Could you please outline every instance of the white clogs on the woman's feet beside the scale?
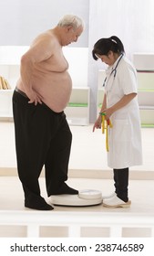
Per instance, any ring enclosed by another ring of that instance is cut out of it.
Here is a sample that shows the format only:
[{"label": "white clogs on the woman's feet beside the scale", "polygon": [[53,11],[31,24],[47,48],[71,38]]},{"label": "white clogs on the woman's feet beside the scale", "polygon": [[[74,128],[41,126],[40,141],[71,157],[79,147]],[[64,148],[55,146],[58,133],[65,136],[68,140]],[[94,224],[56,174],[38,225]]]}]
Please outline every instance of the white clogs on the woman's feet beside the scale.
[{"label": "white clogs on the woman's feet beside the scale", "polygon": [[103,206],[107,208],[129,208],[131,201],[125,202],[115,195],[114,197],[104,199]]}]

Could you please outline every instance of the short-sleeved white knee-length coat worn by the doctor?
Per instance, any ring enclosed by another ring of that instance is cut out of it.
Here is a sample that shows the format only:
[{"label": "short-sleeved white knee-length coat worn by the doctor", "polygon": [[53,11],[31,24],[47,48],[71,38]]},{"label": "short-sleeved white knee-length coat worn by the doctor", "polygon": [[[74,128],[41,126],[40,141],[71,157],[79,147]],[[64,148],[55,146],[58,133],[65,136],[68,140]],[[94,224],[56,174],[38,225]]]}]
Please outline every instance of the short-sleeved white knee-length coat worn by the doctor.
[{"label": "short-sleeved white knee-length coat worn by the doctor", "polygon": [[[115,69],[118,63],[117,70]],[[118,102],[125,94],[138,92],[136,69],[126,57],[107,69],[105,84],[107,108]],[[142,145],[138,96],[125,107],[114,112],[108,128],[108,166],[115,169],[142,164]]]}]

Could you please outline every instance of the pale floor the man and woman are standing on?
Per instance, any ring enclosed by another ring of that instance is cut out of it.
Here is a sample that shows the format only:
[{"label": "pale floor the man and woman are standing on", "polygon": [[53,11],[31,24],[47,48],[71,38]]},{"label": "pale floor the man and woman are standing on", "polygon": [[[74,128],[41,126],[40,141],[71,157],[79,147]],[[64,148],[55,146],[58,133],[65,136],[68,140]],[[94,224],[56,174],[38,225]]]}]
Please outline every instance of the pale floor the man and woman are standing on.
[{"label": "pale floor the man and woman are standing on", "polygon": [[[89,179],[89,178],[69,178],[67,184],[71,187],[82,189],[96,189],[100,190],[103,196],[108,196],[113,192],[113,183],[110,179]],[[44,177],[40,178],[40,187],[42,191],[42,196],[46,198],[46,187]],[[9,188],[9,189],[8,189]],[[0,177],[0,210],[30,210],[24,208],[23,200],[23,190],[18,181],[18,178],[15,176]],[[11,193],[10,193],[11,191]],[[102,212],[144,212],[144,213],[153,213],[154,214],[154,202],[151,200],[149,195],[154,195],[154,181],[143,181],[143,180],[130,180],[129,181],[129,199],[131,199],[132,204],[131,208],[104,208],[102,205],[98,205],[92,208],[92,210],[99,210]],[[57,211],[59,210],[80,210],[81,208],[74,207],[55,207]],[[90,207],[84,208],[84,210],[90,210]]]}]

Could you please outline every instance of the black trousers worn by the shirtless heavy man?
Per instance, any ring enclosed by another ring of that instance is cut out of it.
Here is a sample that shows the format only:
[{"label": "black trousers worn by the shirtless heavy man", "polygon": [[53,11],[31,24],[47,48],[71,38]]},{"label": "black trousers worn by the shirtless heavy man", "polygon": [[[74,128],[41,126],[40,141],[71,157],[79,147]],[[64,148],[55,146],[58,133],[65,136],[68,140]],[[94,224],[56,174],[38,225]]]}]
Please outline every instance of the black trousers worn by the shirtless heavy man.
[{"label": "black trousers worn by the shirtless heavy man", "polygon": [[40,197],[38,178],[45,165],[48,197],[67,180],[72,142],[64,112],[56,113],[46,104],[28,103],[26,95],[14,91],[15,148],[18,176],[25,197]]}]

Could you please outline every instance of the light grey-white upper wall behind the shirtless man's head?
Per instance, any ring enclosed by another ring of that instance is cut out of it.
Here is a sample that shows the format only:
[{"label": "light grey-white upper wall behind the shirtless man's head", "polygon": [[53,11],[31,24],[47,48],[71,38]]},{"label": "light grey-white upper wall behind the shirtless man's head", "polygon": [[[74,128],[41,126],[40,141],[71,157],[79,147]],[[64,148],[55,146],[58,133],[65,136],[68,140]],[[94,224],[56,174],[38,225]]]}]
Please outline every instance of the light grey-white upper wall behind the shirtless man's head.
[{"label": "light grey-white upper wall behind the shirtless man's head", "polygon": [[89,0],[0,0],[0,45],[26,46],[66,14],[85,20],[86,30],[72,47],[87,47]]}]

